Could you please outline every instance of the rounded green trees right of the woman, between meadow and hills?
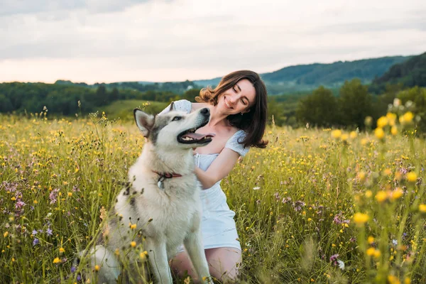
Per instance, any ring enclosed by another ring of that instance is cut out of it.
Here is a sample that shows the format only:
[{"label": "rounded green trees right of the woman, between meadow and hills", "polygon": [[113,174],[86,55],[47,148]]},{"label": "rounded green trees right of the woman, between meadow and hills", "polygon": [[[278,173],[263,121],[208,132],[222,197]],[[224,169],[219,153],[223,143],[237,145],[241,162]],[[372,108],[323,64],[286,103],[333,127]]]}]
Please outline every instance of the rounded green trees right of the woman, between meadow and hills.
[{"label": "rounded green trees right of the woman, between meadow and hills", "polygon": [[418,127],[426,132],[426,88],[418,86],[403,89],[400,84],[388,84],[382,94],[374,95],[368,91],[368,85],[355,79],[346,81],[337,96],[330,89],[319,87],[300,99],[295,116],[300,124],[364,129],[366,116],[376,121],[386,115],[395,98],[400,99],[403,105],[413,102],[413,112],[421,119]]}]

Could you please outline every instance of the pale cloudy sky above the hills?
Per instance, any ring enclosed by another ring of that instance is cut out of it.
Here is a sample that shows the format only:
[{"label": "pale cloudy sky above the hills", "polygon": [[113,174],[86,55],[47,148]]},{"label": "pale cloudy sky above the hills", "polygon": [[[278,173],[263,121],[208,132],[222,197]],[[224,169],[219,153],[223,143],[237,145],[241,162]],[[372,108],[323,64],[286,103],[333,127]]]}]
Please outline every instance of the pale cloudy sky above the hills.
[{"label": "pale cloudy sky above the hills", "polygon": [[183,81],[426,52],[425,0],[0,0],[0,82]]}]

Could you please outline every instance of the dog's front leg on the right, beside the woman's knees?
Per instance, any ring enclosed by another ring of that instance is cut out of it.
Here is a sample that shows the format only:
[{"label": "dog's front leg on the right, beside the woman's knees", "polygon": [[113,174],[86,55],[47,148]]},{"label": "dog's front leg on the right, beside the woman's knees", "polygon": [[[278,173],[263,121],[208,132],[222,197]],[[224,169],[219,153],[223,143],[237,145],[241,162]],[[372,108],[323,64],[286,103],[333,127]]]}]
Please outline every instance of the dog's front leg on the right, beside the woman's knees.
[{"label": "dog's front leg on the right, beside the woman's knees", "polygon": [[202,235],[200,229],[188,233],[183,244],[190,256],[192,266],[194,266],[198,278],[200,278],[199,281],[201,283],[212,283],[209,273],[209,265],[207,264],[206,255],[202,246]]}]

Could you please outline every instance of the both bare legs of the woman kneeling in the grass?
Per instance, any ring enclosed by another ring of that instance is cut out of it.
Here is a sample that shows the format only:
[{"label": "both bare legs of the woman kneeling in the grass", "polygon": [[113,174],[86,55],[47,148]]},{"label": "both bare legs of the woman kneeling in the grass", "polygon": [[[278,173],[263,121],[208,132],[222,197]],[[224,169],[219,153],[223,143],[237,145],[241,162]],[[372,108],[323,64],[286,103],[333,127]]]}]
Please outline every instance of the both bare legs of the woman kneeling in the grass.
[{"label": "both bare legs of the woman kneeling in the grass", "polygon": [[[241,251],[234,248],[215,248],[206,249],[207,263],[209,263],[210,275],[224,283],[234,282],[239,273],[239,267],[241,266]],[[174,273],[177,273],[179,277],[187,274],[192,279],[197,279],[197,273],[195,273],[190,257],[186,251],[178,253],[175,258],[170,262],[170,266]]]}]

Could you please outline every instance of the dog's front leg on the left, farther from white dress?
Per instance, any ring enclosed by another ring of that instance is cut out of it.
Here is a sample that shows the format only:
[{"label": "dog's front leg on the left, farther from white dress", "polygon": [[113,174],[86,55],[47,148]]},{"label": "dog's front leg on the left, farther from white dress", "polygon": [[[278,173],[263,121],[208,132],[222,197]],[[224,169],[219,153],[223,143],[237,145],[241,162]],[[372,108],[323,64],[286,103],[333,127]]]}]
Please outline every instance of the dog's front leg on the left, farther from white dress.
[{"label": "dog's front leg on the left, farther from white dress", "polygon": [[170,273],[165,242],[146,239],[145,246],[157,283],[172,283],[172,273]]}]

